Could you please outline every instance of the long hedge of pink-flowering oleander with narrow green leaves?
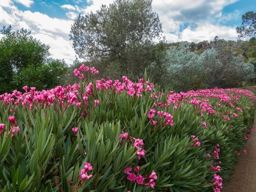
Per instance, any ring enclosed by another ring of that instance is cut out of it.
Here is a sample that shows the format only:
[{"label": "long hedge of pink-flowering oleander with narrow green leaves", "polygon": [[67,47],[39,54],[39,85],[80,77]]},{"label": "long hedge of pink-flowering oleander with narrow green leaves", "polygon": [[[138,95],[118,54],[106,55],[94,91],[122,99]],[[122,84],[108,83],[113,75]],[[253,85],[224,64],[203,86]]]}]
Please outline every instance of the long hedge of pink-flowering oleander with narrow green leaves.
[{"label": "long hedge of pink-flowering oleander with narrow green leaves", "polygon": [[160,92],[146,75],[97,73],[0,95],[0,191],[221,191],[253,131],[252,92]]}]

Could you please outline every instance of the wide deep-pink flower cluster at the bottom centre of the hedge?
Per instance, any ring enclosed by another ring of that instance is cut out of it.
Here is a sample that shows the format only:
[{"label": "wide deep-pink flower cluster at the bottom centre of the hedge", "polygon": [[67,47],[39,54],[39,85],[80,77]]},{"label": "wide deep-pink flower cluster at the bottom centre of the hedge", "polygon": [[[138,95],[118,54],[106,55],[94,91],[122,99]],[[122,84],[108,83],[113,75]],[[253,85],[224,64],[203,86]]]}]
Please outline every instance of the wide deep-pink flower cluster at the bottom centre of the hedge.
[{"label": "wide deep-pink flower cluster at the bottom centre of the hedge", "polygon": [[128,175],[127,180],[137,182],[138,184],[142,184],[142,185],[148,185],[152,189],[154,189],[154,186],[156,185],[154,180],[157,180],[157,175],[154,172],[154,170],[151,172],[151,175],[149,176],[146,175],[145,177],[140,175],[140,166],[135,167],[134,171],[137,172],[137,175],[135,175],[134,173],[131,173],[131,167],[127,167],[123,171],[125,174]]}]

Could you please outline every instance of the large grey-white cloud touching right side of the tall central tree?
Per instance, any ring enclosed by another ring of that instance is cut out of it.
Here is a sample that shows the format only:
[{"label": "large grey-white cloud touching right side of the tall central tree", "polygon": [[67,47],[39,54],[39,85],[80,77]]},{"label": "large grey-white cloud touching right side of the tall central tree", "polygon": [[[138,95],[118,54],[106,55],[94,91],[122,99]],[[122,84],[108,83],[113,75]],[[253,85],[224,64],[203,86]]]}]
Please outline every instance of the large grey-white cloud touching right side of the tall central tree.
[{"label": "large grey-white cloud touching right side of the tall central tree", "polygon": [[[159,15],[164,33],[180,34],[180,26],[201,25],[220,17],[221,10],[238,0],[153,0],[152,7]],[[185,31],[186,32],[186,31]],[[180,34],[181,35],[181,34]]]}]

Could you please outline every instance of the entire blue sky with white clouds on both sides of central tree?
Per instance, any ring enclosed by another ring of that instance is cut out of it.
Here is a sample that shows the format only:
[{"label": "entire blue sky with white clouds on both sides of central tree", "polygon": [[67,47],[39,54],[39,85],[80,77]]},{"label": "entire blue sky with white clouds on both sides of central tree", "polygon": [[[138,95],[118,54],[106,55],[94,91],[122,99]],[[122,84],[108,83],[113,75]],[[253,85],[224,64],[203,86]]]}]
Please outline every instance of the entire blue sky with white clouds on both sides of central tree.
[{"label": "entire blue sky with white clouds on both sides of central tree", "polygon": [[[76,58],[69,40],[70,26],[77,14],[95,12],[113,0],[0,0],[0,27],[21,27],[51,46],[53,58],[71,64]],[[255,0],[153,0],[168,42],[236,40],[241,15],[256,10]]]}]

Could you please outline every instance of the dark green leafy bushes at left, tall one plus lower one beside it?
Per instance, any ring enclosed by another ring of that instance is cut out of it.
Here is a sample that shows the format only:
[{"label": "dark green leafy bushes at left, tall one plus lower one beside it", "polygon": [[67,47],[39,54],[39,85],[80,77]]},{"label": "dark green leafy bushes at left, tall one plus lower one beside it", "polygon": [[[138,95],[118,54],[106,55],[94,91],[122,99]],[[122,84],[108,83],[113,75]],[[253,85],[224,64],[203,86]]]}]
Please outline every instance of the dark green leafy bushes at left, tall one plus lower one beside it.
[{"label": "dark green leafy bushes at left, tall one plus lower one beside it", "polygon": [[24,85],[49,89],[60,83],[67,64],[48,58],[49,46],[41,43],[25,29],[0,30],[0,93],[21,90]]}]

